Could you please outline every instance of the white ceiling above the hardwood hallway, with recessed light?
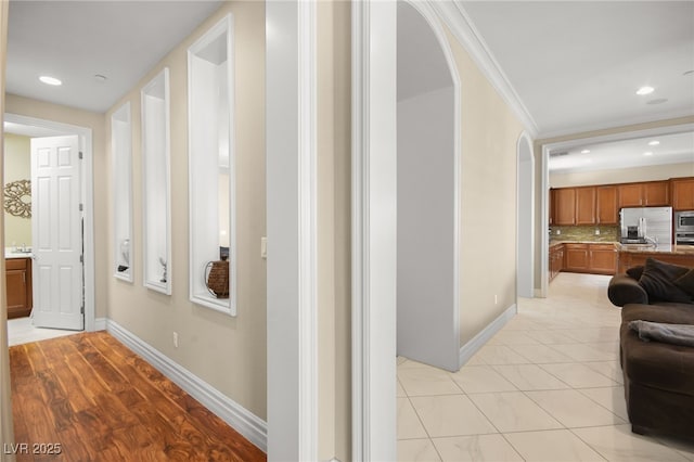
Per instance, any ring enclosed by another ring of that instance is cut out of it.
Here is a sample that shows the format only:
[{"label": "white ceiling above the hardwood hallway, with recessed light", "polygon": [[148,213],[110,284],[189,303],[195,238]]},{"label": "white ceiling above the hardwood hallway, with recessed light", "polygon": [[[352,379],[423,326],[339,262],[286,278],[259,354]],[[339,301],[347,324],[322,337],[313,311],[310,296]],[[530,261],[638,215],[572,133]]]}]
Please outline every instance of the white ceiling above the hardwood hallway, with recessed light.
[{"label": "white ceiling above the hardwood hallway, with recessed light", "polygon": [[[103,113],[219,5],[11,0],[5,91]],[[41,75],[63,85],[41,84]]]}]

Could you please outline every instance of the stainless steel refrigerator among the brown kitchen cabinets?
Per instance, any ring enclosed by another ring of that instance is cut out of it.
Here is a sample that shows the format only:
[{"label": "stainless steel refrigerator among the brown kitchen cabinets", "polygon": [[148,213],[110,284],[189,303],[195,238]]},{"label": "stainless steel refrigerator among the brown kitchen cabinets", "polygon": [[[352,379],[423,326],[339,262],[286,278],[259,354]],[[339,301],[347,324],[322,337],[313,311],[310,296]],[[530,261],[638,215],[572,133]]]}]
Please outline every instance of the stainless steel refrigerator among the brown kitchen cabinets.
[{"label": "stainless steel refrigerator among the brown kitchen cabinets", "polygon": [[627,207],[619,220],[622,244],[672,245],[672,207]]}]

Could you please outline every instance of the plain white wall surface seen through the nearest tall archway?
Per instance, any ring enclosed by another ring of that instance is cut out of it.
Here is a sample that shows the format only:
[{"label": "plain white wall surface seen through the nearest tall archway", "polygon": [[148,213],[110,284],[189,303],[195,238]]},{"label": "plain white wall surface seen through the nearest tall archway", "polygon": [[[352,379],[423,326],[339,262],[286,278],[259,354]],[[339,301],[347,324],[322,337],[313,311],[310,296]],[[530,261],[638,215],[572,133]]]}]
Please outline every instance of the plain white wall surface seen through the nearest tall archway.
[{"label": "plain white wall surface seen through the nearest tall archway", "polygon": [[458,370],[453,87],[398,102],[398,355]]}]

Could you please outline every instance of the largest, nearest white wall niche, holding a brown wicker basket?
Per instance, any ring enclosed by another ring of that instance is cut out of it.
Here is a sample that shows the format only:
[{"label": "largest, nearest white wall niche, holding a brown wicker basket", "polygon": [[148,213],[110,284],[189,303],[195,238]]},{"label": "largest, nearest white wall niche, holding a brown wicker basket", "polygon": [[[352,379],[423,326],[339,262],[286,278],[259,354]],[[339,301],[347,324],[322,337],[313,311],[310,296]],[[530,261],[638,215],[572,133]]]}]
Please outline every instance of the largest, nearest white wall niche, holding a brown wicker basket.
[{"label": "largest, nearest white wall niche, holding a brown wicker basket", "polygon": [[236,316],[233,18],[188,50],[190,298]]}]

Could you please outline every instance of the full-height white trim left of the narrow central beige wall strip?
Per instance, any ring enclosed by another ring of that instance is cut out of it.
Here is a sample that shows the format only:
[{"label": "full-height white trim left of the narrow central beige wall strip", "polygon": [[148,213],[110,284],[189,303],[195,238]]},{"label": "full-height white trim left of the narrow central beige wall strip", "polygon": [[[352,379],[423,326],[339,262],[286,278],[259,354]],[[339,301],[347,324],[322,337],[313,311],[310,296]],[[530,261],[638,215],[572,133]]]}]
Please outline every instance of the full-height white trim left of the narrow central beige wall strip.
[{"label": "full-height white trim left of the narrow central beige wall strip", "polygon": [[318,459],[317,5],[266,5],[268,459]]}]

